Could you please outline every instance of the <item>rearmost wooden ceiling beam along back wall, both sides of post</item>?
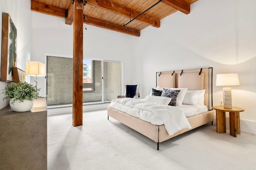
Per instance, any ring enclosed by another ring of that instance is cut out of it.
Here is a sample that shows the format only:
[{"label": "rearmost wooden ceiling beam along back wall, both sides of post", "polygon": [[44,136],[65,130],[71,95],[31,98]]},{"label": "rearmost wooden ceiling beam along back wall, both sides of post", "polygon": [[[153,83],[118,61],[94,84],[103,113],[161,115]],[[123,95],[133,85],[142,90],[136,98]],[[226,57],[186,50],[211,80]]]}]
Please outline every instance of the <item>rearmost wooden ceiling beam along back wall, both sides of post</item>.
[{"label": "rearmost wooden ceiling beam along back wall, both sides of post", "polygon": [[[66,18],[66,23],[68,25],[71,25],[73,22],[72,16],[73,16],[73,10],[70,10],[73,7],[72,4],[70,4],[70,8],[68,10],[68,18]],[[57,16],[60,18],[65,18],[65,9],[58,8],[55,6],[50,6],[41,2],[31,1],[31,10],[35,12],[40,12],[43,14],[48,14],[52,16]],[[133,29],[129,27],[124,27],[123,25],[118,25],[115,23],[111,23],[108,21],[103,21],[97,18],[93,18],[90,16],[85,16],[85,19],[83,21],[84,23],[87,23],[89,25],[94,25],[96,27],[101,27],[105,29],[110,29],[112,31],[118,31],[120,33],[126,33],[129,35],[134,35],[136,37],[140,37],[140,31],[138,29]]]}]

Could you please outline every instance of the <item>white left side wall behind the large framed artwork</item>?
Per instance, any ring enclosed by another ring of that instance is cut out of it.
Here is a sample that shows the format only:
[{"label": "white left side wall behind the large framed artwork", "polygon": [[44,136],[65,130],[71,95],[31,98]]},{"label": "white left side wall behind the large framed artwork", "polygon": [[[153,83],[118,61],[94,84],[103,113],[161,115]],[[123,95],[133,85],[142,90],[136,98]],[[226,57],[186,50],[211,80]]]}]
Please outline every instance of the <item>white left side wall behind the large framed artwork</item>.
[{"label": "white left side wall behind the large framed artwork", "polygon": [[[32,36],[30,0],[0,0],[1,26],[3,12],[9,14],[17,28],[17,67],[25,71],[26,61],[30,61]],[[2,27],[0,42],[2,42]],[[0,46],[0,51],[2,51],[2,45]],[[0,109],[8,106],[9,104],[9,100],[2,100],[4,98],[2,89],[4,89],[7,84],[7,82],[0,82]]]}]

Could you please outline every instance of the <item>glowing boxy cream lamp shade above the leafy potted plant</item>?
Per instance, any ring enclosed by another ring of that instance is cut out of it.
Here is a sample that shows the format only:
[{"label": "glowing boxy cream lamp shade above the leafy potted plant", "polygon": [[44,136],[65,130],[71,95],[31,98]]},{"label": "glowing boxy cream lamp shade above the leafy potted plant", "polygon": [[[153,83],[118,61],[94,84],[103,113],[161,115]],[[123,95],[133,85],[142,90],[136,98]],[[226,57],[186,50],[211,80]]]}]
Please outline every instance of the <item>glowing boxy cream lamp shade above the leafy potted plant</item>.
[{"label": "glowing boxy cream lamp shade above the leafy potted plant", "polygon": [[45,76],[45,64],[39,61],[26,61],[26,75]]}]

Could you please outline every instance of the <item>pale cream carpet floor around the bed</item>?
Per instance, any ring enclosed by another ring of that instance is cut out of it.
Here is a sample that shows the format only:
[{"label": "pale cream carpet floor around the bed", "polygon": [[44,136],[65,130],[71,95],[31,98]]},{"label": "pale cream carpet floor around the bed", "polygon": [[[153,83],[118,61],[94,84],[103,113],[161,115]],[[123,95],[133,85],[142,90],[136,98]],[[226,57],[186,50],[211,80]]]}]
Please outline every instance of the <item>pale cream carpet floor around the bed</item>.
[{"label": "pale cream carpet floor around the bed", "polygon": [[48,116],[48,170],[256,170],[256,135],[203,125],[159,144],[107,111]]}]

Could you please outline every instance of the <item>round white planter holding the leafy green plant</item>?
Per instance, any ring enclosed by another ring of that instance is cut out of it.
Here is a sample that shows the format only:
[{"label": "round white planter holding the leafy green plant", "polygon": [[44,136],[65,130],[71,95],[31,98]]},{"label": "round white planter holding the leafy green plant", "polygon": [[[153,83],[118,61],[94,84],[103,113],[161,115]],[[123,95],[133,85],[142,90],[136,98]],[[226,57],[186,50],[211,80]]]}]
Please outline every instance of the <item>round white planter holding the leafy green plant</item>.
[{"label": "round white planter holding the leafy green plant", "polygon": [[20,100],[16,100],[13,104],[13,99],[10,100],[10,107],[13,111],[24,112],[30,111],[33,107],[34,100],[31,102],[29,100],[24,100],[24,102],[20,102]]}]

